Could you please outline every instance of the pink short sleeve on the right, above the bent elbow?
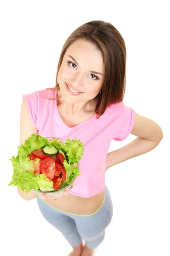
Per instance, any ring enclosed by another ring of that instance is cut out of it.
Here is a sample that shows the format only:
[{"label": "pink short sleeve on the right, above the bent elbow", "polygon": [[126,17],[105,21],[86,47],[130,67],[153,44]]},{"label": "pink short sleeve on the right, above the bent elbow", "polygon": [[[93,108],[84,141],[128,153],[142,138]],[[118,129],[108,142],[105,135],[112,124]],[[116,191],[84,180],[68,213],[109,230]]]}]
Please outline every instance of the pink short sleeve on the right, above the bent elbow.
[{"label": "pink short sleeve on the right, above the bent elbow", "polygon": [[126,105],[123,104],[119,131],[116,134],[116,138],[113,138],[113,140],[118,140],[118,141],[125,140],[129,136],[130,132],[132,131],[134,119],[135,119],[135,111],[132,108],[127,107]]}]

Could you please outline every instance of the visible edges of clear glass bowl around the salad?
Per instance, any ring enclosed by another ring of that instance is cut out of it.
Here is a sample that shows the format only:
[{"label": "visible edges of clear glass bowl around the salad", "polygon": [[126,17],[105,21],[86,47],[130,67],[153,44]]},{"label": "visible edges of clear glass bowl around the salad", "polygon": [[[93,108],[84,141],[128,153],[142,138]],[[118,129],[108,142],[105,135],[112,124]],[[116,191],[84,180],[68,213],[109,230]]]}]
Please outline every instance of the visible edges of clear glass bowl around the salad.
[{"label": "visible edges of clear glass bowl around the salad", "polygon": [[[56,137],[45,137],[47,140],[49,140],[49,141],[52,141],[53,139],[57,139],[57,140],[59,140],[62,144],[65,144],[66,143],[66,141],[65,140],[62,140],[62,139],[59,139],[59,138],[56,138]],[[79,170],[79,162],[78,163],[76,163],[74,166],[78,166],[78,170]],[[68,183],[66,183],[65,185],[63,185],[63,186],[60,186],[59,187],[59,189],[57,189],[57,190],[55,190],[54,189],[54,191],[50,191],[50,192],[43,192],[43,191],[41,191],[40,189],[38,189],[38,192],[37,191],[35,191],[35,189],[32,189],[34,192],[37,192],[38,194],[41,194],[41,195],[58,195],[58,194],[61,194],[62,192],[63,192],[63,190],[65,190],[65,189],[69,189],[72,185],[73,185],[73,183],[74,183],[74,181],[76,180],[76,178],[77,178],[77,176],[74,178],[74,180],[72,180],[71,181],[71,183],[70,184],[68,184]]]}]

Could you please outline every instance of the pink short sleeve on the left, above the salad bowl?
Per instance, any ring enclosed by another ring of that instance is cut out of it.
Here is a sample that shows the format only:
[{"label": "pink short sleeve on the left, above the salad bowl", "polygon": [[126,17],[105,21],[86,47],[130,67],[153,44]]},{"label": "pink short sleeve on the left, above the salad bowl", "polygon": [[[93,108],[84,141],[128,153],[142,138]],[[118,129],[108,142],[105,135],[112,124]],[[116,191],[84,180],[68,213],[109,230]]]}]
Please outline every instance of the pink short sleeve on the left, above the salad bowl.
[{"label": "pink short sleeve on the left, above the salad bowl", "polygon": [[28,114],[31,118],[32,123],[37,128],[37,111],[38,111],[38,96],[37,92],[25,94],[22,96],[25,99]]}]

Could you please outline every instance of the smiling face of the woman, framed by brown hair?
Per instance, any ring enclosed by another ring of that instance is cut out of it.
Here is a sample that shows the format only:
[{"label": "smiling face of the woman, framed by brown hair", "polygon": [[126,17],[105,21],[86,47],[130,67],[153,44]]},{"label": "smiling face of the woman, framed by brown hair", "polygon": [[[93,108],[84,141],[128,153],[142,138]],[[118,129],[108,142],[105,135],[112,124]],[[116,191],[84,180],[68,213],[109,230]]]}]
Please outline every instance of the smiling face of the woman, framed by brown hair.
[{"label": "smiling face of the woman, framed by brown hair", "polygon": [[[94,99],[101,89],[103,76],[101,51],[91,42],[78,39],[65,52],[57,76],[62,98],[70,103]],[[82,93],[71,95],[68,86]]]}]

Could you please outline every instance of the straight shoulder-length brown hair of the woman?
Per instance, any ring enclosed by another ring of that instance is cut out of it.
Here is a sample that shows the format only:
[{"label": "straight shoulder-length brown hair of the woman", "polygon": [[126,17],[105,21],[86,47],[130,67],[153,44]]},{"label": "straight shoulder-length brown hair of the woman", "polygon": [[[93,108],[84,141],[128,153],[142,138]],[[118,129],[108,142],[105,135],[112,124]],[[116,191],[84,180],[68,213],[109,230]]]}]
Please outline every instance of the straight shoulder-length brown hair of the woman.
[{"label": "straight shoulder-length brown hair of the woman", "polygon": [[67,48],[79,38],[90,41],[101,50],[104,62],[104,77],[96,105],[96,118],[99,118],[111,104],[122,102],[126,85],[126,47],[119,31],[109,22],[102,20],[89,21],[79,26],[65,41],[59,57],[57,76]]}]

